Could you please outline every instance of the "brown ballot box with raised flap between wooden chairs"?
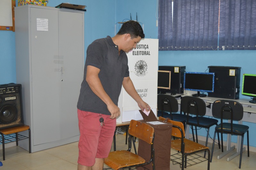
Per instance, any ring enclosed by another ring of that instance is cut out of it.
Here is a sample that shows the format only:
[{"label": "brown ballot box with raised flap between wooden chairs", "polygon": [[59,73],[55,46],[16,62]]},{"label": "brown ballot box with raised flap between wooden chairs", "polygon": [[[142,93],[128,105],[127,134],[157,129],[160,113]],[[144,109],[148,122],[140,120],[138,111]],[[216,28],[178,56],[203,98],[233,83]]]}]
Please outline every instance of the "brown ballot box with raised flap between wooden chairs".
[{"label": "brown ballot box with raised flap between wooden chairs", "polygon": [[[172,124],[157,120],[155,114],[150,111],[147,116],[140,111],[143,120],[141,122],[158,121],[164,124],[150,124],[155,131],[154,149],[155,149],[155,168],[156,170],[170,170],[170,155],[171,155],[171,136],[172,136]],[[150,159],[150,144],[139,141],[138,155],[145,158],[146,161]],[[152,164],[138,167],[139,170],[153,169]]]}]

